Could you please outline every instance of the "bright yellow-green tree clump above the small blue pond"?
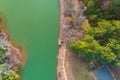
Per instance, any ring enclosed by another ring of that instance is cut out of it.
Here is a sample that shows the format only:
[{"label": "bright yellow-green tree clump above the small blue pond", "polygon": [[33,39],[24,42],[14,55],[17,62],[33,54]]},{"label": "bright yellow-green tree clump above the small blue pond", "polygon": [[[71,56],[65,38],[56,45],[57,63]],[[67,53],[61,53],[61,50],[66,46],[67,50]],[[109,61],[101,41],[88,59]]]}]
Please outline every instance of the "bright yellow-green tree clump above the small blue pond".
[{"label": "bright yellow-green tree clump above the small blue pond", "polygon": [[88,61],[100,60],[107,65],[120,65],[120,21],[102,20],[97,26],[87,27],[84,38],[68,47],[77,55],[83,55]]}]

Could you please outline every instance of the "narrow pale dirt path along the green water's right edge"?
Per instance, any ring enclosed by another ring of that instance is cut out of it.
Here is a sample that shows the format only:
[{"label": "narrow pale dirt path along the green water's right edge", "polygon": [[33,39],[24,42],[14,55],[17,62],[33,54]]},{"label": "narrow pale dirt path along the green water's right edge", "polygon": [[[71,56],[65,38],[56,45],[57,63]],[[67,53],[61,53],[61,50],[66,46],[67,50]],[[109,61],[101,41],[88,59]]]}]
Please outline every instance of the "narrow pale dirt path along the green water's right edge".
[{"label": "narrow pale dirt path along the green water's right edge", "polygon": [[[64,40],[65,33],[63,33],[63,25],[65,24],[64,19],[64,0],[60,0],[60,29],[59,29],[59,40]],[[59,41],[58,41],[59,42]],[[64,42],[59,47],[58,64],[57,64],[57,80],[68,80],[66,69],[65,69],[65,53],[66,43]]]}]

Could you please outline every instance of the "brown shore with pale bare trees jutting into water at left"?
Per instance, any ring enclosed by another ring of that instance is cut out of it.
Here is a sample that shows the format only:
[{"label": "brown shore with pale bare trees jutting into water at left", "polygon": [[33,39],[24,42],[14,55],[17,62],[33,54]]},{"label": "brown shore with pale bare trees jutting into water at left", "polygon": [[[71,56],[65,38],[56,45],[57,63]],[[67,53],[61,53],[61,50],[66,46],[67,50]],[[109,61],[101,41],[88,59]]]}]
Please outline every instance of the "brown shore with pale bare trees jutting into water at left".
[{"label": "brown shore with pale bare trees jutting into water at left", "polygon": [[0,80],[18,80],[19,67],[23,57],[19,49],[13,46],[4,30],[0,29]]}]

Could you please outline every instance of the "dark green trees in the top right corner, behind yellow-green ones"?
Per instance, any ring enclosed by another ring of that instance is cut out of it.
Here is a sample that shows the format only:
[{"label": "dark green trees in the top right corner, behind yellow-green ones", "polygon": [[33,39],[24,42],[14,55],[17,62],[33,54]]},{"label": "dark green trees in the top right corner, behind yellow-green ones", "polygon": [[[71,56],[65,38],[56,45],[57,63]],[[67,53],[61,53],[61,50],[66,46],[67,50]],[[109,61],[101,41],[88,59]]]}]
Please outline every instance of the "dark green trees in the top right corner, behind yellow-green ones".
[{"label": "dark green trees in the top right corner, behind yellow-green ones", "polygon": [[102,19],[120,20],[120,0],[83,0],[83,2],[88,8],[86,14],[91,25]]}]

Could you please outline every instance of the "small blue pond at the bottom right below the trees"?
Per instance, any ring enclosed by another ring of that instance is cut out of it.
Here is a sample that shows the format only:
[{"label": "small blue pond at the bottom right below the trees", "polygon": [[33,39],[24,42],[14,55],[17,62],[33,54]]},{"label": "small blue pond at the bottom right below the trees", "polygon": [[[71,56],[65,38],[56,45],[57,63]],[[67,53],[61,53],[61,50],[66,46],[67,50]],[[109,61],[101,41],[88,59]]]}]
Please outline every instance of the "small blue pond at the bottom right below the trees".
[{"label": "small blue pond at the bottom right below the trees", "polygon": [[107,66],[103,66],[99,70],[96,70],[94,76],[97,80],[114,80]]}]

